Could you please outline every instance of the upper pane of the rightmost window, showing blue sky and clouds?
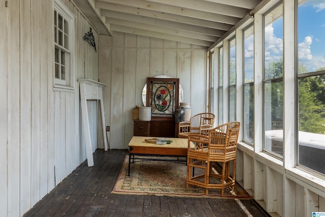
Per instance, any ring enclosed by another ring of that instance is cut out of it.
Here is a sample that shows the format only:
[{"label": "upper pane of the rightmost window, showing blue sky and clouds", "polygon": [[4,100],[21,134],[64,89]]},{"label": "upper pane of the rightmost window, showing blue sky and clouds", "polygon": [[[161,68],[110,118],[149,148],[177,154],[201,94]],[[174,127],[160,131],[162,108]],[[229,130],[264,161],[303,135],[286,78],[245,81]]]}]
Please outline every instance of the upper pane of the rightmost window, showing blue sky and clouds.
[{"label": "upper pane of the rightmost window, showing blue sky and clouds", "polygon": [[325,70],[325,10],[323,2],[299,1],[298,73]]}]

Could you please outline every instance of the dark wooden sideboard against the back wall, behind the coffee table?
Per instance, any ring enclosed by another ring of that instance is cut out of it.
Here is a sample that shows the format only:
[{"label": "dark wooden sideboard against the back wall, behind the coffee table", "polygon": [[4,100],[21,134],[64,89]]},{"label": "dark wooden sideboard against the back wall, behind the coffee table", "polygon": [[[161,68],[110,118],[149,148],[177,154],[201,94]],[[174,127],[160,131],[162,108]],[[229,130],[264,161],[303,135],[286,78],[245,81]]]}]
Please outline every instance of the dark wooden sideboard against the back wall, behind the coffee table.
[{"label": "dark wooden sideboard against the back wall, behind the coffee table", "polygon": [[134,136],[175,137],[174,119],[134,120]]}]

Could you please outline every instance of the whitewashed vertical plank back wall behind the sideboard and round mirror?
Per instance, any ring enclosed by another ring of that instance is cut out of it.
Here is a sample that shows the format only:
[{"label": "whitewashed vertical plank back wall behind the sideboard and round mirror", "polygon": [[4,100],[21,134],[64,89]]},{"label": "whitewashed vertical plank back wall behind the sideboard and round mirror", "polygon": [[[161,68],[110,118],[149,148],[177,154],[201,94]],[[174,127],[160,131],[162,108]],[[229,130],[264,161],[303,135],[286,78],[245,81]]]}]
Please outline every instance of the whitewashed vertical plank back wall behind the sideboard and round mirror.
[{"label": "whitewashed vertical plank back wall behind the sideboard and round mirror", "polygon": [[114,32],[100,36],[99,78],[111,148],[127,148],[133,136],[132,109],[143,106],[147,77],[180,78],[192,114],[206,111],[206,49],[186,43]]}]

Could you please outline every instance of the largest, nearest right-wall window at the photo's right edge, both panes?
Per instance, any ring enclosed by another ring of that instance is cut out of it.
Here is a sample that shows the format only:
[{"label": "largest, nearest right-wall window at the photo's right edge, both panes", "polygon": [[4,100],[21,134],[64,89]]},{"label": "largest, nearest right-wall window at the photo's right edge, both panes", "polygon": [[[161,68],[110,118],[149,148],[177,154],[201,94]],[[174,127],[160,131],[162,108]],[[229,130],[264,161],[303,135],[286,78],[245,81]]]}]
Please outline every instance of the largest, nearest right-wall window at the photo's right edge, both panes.
[{"label": "largest, nearest right-wall window at the photo's right edge, both panes", "polygon": [[325,174],[325,10],[298,4],[298,164]]}]

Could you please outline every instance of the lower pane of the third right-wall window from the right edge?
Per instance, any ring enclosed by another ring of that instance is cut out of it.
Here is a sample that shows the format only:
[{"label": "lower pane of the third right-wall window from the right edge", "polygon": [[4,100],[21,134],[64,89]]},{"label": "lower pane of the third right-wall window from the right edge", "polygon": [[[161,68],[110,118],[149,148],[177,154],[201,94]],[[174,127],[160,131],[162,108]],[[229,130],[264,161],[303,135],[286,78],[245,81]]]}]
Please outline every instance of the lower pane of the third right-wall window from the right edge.
[{"label": "lower pane of the third right-wall window from the right edge", "polygon": [[254,85],[244,84],[244,141],[254,143]]}]

